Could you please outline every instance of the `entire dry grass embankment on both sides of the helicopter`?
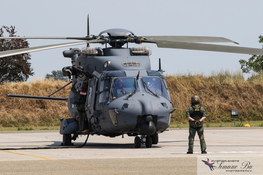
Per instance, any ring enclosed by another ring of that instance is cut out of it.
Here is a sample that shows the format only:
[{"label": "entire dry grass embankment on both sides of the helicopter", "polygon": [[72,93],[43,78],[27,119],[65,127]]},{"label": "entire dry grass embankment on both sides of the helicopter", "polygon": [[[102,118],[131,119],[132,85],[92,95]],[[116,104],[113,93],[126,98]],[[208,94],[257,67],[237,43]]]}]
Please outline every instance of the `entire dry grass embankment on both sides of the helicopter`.
[{"label": "entire dry grass embankment on both sides of the helicopter", "polygon": [[[240,72],[220,71],[202,74],[166,75],[173,113],[171,125],[187,123],[185,111],[190,99],[198,95],[207,111],[205,123],[230,122],[231,110],[239,110],[240,121],[263,120],[263,75],[245,81]],[[6,94],[48,96],[65,85],[65,81],[35,80],[26,83],[4,83],[0,88],[0,127],[59,126],[60,118],[69,118],[66,101],[6,98]],[[52,97],[68,97],[70,85]]]}]

